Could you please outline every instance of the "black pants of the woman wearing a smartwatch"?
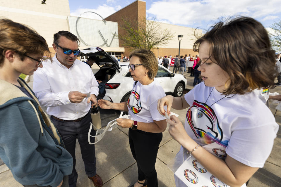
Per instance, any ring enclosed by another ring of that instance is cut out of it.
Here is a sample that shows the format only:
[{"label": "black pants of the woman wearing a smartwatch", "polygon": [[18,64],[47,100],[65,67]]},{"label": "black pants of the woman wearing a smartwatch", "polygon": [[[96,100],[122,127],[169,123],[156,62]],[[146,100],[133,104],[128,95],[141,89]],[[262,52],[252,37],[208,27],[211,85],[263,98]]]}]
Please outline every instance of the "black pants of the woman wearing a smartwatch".
[{"label": "black pants of the woman wearing a smartwatch", "polygon": [[146,179],[148,187],[158,186],[155,162],[162,136],[162,133],[129,129],[130,148],[138,165],[138,180]]}]

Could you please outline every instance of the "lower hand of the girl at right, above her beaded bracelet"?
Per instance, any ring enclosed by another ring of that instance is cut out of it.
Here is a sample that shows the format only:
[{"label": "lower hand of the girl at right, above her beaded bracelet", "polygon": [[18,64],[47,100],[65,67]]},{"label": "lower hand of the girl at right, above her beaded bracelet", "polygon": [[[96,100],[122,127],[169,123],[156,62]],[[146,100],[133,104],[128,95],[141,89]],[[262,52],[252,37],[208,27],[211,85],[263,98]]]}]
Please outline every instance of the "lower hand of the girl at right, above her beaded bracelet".
[{"label": "lower hand of the girl at right, above her beaded bracelet", "polygon": [[177,118],[175,115],[172,115],[170,119],[171,120],[166,120],[166,122],[170,124],[169,133],[177,142],[183,145],[189,136],[179,118]]}]

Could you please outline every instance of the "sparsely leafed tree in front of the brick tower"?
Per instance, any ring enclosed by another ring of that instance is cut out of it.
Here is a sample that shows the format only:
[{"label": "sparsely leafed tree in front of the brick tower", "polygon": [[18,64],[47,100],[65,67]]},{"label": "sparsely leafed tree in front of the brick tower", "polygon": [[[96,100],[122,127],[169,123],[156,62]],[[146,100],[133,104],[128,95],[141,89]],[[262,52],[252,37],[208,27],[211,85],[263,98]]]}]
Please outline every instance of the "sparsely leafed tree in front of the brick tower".
[{"label": "sparsely leafed tree in front of the brick tower", "polygon": [[121,18],[123,24],[118,25],[125,32],[118,35],[125,47],[137,49],[155,49],[159,45],[167,44],[174,36],[168,29],[161,29],[159,22],[147,20],[145,17],[131,21],[129,18]]}]

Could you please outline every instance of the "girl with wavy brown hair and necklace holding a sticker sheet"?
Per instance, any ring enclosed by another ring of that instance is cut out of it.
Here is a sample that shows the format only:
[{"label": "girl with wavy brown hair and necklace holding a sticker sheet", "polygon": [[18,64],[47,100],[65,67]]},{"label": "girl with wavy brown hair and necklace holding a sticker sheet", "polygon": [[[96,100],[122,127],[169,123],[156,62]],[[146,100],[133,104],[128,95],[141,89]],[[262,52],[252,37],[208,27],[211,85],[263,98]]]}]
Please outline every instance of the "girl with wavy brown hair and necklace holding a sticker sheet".
[{"label": "girl with wavy brown hair and necklace holding a sticker sheet", "polygon": [[[274,85],[275,54],[267,31],[253,18],[219,22],[193,50],[201,57],[204,82],[182,97],[163,97],[158,111],[163,115],[166,105],[167,113],[190,107],[184,126],[175,116],[167,120],[171,136],[216,179],[246,187],[270,155],[278,131],[273,114],[252,92]],[[175,175],[176,186],[191,184],[180,177]]]}]

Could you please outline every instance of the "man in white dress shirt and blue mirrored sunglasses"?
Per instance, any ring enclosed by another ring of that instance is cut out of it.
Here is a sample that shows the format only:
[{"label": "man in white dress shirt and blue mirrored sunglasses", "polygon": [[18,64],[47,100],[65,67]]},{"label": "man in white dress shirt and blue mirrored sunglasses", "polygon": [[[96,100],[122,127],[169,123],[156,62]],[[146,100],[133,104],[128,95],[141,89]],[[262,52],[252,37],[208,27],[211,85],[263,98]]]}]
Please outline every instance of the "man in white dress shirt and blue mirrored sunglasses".
[{"label": "man in white dress shirt and blue mirrored sunglasses", "polygon": [[[69,175],[69,186],[75,187],[78,174],[75,169],[76,138],[81,147],[85,172],[95,186],[103,185],[96,173],[95,145],[88,143],[91,101],[96,105],[98,83],[91,68],[77,55],[78,37],[68,31],[54,34],[53,48],[56,55],[43,62],[43,67],[34,74],[33,91],[40,104],[47,106],[47,113],[58,129],[66,150],[73,157],[73,170]],[[87,95],[90,97],[87,98]],[[91,140],[94,141],[94,140]]]}]

